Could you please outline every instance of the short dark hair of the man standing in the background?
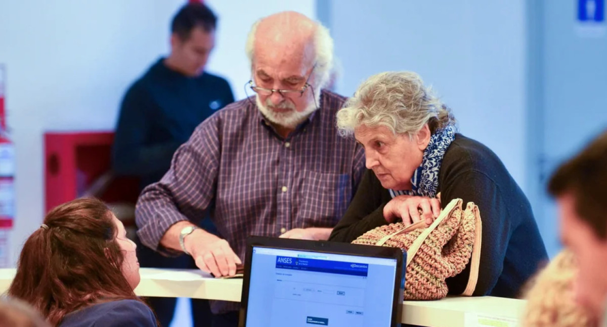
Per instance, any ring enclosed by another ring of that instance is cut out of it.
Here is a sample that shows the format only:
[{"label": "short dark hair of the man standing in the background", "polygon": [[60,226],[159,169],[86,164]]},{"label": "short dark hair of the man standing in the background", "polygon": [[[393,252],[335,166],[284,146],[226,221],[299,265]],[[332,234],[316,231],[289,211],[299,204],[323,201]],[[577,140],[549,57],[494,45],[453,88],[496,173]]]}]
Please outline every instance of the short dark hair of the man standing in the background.
[{"label": "short dark hair of the man standing in the background", "polygon": [[217,16],[200,2],[189,2],[181,7],[171,23],[171,33],[187,40],[195,27],[201,27],[206,33],[215,30]]}]

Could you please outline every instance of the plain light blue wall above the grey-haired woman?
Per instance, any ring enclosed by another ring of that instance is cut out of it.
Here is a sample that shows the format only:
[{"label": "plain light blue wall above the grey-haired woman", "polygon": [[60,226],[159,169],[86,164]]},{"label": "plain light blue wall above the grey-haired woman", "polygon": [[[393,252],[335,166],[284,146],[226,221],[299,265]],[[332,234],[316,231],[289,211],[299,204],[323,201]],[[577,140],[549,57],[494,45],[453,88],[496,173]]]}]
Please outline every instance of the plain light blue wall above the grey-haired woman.
[{"label": "plain light blue wall above the grey-haired woman", "polygon": [[526,186],[523,0],[333,0],[329,10],[344,66],[338,91],[351,95],[381,71],[416,71],[452,107],[462,133]]}]

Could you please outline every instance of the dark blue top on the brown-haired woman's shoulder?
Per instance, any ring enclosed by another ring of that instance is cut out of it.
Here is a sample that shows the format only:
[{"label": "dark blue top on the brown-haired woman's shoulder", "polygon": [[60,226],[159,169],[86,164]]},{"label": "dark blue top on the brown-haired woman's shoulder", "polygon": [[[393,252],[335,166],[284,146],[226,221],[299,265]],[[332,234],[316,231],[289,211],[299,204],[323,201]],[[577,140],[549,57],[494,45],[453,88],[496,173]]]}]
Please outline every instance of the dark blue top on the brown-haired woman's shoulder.
[{"label": "dark blue top on the brown-haired woman's shoulder", "polygon": [[118,300],[87,306],[67,314],[59,327],[156,327],[152,310],[135,300]]}]

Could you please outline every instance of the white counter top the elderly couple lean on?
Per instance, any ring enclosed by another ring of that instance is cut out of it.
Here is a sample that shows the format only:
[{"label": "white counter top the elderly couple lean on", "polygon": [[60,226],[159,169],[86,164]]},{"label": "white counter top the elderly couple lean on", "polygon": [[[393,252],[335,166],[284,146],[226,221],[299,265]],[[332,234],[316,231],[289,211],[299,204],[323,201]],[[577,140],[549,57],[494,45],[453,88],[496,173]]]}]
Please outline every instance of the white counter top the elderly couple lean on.
[{"label": "white counter top the elderly couple lean on", "polygon": [[[0,269],[0,292],[8,289],[15,269]],[[198,270],[141,268],[139,296],[190,297],[240,301],[242,279],[214,279]],[[449,297],[405,301],[402,323],[436,327],[516,326],[524,300],[500,297]]]}]

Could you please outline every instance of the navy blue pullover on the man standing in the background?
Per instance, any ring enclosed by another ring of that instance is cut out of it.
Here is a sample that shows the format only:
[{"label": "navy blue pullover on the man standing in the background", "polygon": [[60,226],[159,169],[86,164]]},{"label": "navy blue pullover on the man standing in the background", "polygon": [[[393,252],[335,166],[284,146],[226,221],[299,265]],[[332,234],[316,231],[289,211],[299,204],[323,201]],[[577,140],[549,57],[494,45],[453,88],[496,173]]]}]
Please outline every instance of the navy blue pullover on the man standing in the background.
[{"label": "navy blue pullover on the man standing in the background", "polygon": [[124,95],[112,150],[115,173],[157,182],[194,128],[234,102],[228,82],[212,74],[188,77],[160,58]]}]

